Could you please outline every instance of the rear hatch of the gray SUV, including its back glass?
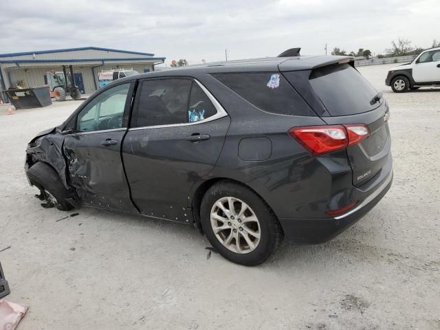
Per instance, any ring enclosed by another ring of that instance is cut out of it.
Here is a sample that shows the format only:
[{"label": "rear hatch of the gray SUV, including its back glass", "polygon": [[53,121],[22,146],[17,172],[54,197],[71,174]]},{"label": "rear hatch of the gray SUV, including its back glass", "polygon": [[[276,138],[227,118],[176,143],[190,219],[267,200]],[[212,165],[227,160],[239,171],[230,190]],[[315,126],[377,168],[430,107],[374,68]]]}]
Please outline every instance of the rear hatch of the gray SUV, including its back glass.
[{"label": "rear hatch of the gray SUV, including its back glass", "polygon": [[[303,80],[301,94],[327,124],[366,124],[370,135],[347,148],[353,169],[353,185],[362,186],[384,168],[390,157],[388,104],[349,63],[336,63],[307,70],[283,73],[294,87]],[[306,80],[306,75],[308,82]],[[308,91],[305,91],[308,88]],[[314,100],[312,100],[314,99]],[[318,102],[316,102],[318,101]]]}]

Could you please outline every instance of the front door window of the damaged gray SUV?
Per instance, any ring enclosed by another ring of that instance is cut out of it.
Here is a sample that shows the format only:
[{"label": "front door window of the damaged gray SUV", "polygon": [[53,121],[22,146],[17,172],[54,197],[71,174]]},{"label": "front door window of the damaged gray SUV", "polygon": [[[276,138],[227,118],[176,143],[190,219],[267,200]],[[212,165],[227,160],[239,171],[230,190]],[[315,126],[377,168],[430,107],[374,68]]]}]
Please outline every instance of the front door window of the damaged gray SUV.
[{"label": "front door window of the damaged gray SUV", "polygon": [[78,113],[76,130],[80,132],[120,129],[130,84],[107,89],[91,100]]}]

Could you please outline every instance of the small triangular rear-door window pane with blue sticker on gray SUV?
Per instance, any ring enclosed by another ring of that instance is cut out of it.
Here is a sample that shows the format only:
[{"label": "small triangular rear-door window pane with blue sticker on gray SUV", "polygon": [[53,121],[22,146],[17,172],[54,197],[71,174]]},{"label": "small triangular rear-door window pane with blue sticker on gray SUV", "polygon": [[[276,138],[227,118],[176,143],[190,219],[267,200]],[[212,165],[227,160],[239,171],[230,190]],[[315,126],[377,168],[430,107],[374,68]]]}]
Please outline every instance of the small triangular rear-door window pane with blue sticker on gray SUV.
[{"label": "small triangular rear-door window pane with blue sticker on gray SUV", "polygon": [[214,104],[212,104],[199,84],[193,82],[188,109],[188,122],[198,122],[215,115],[215,113],[217,113],[217,110]]}]

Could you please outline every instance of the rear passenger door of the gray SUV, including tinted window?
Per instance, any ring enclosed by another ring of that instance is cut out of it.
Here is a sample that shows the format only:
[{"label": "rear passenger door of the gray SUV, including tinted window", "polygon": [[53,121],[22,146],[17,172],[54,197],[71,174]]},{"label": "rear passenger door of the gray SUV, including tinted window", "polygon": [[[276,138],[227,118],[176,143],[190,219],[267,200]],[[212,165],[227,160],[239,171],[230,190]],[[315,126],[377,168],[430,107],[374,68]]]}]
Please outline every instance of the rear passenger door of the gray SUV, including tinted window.
[{"label": "rear passenger door of the gray SUV, including tinted window", "polygon": [[229,124],[227,113],[196,80],[140,83],[122,157],[142,214],[188,220],[190,188],[216,164]]}]

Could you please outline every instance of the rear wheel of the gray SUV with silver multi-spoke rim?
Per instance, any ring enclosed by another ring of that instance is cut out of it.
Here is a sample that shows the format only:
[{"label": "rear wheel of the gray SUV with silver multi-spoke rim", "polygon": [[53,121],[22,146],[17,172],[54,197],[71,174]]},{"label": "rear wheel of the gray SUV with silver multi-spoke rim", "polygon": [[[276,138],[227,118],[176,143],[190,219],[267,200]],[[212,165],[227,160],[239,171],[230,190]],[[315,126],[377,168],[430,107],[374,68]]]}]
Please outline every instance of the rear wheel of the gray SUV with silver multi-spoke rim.
[{"label": "rear wheel of the gray SUV with silver multi-spoke rim", "polygon": [[[230,212],[230,201],[233,212]],[[243,214],[239,214],[240,212]],[[265,201],[252,190],[232,181],[221,181],[208,189],[201,201],[200,216],[203,231],[212,246],[233,263],[259,265],[283,241],[281,225]],[[217,230],[215,234],[214,228],[219,227],[224,229]]]}]

